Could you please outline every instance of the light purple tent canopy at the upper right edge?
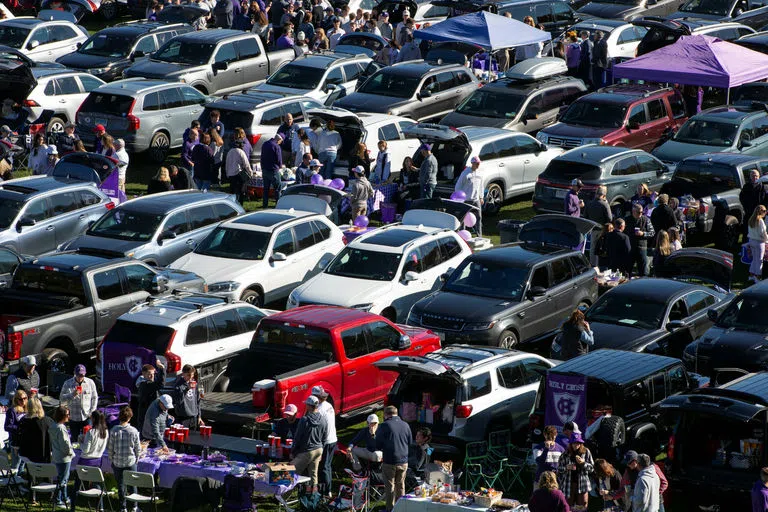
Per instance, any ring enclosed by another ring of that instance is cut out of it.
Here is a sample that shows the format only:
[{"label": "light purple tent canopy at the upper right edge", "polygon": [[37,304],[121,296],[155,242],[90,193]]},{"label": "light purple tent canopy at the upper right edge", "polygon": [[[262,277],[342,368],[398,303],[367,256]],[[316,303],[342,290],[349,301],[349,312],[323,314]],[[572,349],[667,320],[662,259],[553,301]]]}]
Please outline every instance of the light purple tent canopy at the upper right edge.
[{"label": "light purple tent canopy at the upper right edge", "polygon": [[714,37],[683,36],[617,64],[613,77],[727,89],[768,78],[768,55]]}]

